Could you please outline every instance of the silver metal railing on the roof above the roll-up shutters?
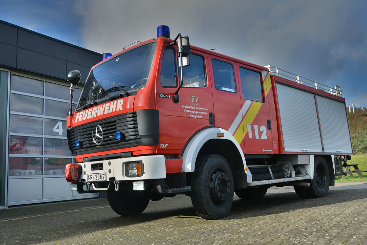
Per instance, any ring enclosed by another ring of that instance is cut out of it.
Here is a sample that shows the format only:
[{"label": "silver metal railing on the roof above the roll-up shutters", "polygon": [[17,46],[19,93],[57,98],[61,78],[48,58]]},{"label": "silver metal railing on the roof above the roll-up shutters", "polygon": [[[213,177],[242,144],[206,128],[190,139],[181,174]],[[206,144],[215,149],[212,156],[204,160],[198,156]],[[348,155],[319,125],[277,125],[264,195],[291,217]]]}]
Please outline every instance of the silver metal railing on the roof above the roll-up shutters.
[{"label": "silver metal railing on the roof above the roll-up shutters", "polygon": [[269,69],[269,72],[272,75],[281,76],[281,77],[293,80],[296,83],[304,84],[304,85],[307,85],[307,86],[310,86],[310,87],[314,87],[315,89],[322,90],[322,91],[325,91],[327,93],[343,97],[342,91],[341,91],[341,89],[338,85],[335,85],[335,88],[333,88],[333,87],[327,86],[325,84],[310,80],[308,78],[304,78],[303,76],[299,76],[299,75],[294,74],[292,72],[284,71],[284,70],[278,68],[277,66],[266,65],[265,67]]}]

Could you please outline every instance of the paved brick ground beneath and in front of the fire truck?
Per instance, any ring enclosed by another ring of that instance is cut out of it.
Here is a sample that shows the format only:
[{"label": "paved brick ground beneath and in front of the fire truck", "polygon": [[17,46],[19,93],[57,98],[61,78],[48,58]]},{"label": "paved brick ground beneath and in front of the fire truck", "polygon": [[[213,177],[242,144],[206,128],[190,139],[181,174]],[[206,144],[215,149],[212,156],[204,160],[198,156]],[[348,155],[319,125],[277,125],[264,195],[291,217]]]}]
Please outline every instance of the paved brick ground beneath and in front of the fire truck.
[{"label": "paved brick ground beneath and in front of the fire truck", "polygon": [[199,218],[184,195],[150,202],[138,217],[116,215],[106,199],[12,207],[0,210],[0,244],[367,245],[367,182],[316,199],[292,187],[261,201],[235,197],[221,220]]}]

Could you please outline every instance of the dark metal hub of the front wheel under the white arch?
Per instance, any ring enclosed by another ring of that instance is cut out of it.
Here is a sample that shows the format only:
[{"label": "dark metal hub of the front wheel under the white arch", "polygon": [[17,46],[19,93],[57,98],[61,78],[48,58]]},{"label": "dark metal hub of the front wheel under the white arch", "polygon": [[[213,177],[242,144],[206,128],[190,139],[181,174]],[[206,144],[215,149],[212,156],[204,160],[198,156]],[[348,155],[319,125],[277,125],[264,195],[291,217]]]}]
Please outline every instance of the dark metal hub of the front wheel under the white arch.
[{"label": "dark metal hub of the front wheel under the white arch", "polygon": [[222,205],[226,201],[230,190],[229,178],[222,169],[215,169],[212,172],[209,188],[211,199],[215,205]]}]

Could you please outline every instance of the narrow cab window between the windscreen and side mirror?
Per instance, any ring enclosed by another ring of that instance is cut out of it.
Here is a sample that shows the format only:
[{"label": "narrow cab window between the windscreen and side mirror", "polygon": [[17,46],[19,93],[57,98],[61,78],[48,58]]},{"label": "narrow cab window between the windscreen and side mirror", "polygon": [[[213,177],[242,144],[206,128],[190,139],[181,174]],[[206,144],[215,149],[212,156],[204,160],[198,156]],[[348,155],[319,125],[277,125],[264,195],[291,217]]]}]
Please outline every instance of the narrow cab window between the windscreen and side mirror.
[{"label": "narrow cab window between the windscreen and side mirror", "polygon": [[177,87],[176,58],[174,48],[166,48],[163,54],[160,81],[162,87]]}]

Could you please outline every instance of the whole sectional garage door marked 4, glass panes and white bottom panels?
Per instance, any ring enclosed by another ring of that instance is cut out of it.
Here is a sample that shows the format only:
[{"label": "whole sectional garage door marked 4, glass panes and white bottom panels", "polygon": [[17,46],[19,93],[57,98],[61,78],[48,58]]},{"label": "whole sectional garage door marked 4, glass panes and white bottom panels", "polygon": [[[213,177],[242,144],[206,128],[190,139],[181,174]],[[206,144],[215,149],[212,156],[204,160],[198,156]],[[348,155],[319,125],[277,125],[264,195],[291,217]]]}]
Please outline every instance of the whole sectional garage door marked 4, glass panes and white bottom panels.
[{"label": "whole sectional garage door marked 4, glass panes and white bottom panels", "polygon": [[[68,84],[20,73],[10,84],[8,205],[98,196],[71,192],[63,177],[75,162],[66,138]],[[81,89],[74,90],[77,100]]]}]

